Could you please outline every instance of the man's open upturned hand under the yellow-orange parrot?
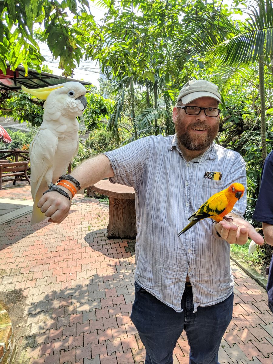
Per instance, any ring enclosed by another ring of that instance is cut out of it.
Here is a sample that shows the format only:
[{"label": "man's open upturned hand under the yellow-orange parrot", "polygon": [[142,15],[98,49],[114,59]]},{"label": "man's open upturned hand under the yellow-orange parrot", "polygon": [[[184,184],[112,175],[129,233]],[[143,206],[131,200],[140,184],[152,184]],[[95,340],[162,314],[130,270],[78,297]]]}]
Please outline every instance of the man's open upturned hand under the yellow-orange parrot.
[{"label": "man's open upturned hand under the yellow-orange parrot", "polygon": [[258,245],[264,244],[263,237],[255,231],[249,222],[235,216],[232,216],[232,220],[222,220],[213,224],[215,225],[216,231],[229,244],[244,245],[248,241],[248,238],[252,239]]}]

